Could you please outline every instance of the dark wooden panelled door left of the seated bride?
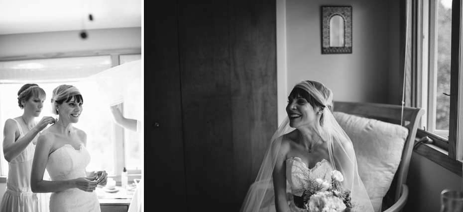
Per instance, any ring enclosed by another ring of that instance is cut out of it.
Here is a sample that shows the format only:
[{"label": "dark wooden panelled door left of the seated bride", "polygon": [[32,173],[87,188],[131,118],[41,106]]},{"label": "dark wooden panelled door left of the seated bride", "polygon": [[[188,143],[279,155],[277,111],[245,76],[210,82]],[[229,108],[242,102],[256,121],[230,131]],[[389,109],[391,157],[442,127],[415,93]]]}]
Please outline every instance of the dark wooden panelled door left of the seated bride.
[{"label": "dark wooden panelled door left of the seated bride", "polygon": [[239,211],[277,128],[275,1],[164,3],[154,38],[162,59],[152,63],[153,204]]}]

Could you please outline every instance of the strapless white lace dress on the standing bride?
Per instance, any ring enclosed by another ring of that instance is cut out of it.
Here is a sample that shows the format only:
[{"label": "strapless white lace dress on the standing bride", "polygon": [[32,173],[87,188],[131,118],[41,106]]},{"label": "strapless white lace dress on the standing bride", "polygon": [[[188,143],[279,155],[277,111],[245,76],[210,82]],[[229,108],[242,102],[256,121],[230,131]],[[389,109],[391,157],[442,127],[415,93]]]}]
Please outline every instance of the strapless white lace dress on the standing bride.
[{"label": "strapless white lace dress on the standing bride", "polygon": [[[66,144],[48,156],[47,170],[53,181],[71,180],[87,177],[89,163],[90,154],[83,144],[79,150]],[[100,212],[100,203],[96,192],[68,189],[51,194],[50,212]]]}]

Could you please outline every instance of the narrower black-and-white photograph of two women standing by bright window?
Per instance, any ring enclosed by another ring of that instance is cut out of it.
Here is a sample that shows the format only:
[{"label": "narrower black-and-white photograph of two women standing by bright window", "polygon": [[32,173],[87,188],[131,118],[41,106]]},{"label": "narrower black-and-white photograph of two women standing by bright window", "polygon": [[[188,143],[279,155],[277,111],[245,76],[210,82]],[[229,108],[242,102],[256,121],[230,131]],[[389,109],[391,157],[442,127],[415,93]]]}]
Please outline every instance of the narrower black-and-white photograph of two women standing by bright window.
[{"label": "narrower black-and-white photograph of two women standing by bright window", "polygon": [[0,1],[0,212],[144,211],[143,52],[143,0]]}]

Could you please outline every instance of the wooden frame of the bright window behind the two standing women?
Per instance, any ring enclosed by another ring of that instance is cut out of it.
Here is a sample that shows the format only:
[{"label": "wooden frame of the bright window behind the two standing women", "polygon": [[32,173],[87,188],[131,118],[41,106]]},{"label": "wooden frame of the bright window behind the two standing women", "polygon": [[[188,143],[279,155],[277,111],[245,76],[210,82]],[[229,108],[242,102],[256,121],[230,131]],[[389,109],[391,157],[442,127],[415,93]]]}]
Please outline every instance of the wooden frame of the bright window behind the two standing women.
[{"label": "wooden frame of the bright window behind the two standing women", "polygon": [[[114,50],[95,50],[95,51],[82,51],[82,52],[68,52],[68,53],[53,53],[53,54],[34,54],[27,56],[18,56],[18,57],[4,57],[0,58],[0,62],[4,61],[19,61],[19,60],[36,60],[36,59],[54,59],[54,58],[72,58],[72,57],[87,57],[87,56],[111,56],[112,67],[119,65],[119,56],[120,55],[141,55],[140,48],[133,49],[114,49]],[[119,104],[118,107],[123,110],[123,103]],[[123,112],[123,111],[122,111]],[[2,130],[2,129],[1,129]],[[116,180],[116,184],[120,186],[121,172],[125,166],[125,155],[124,155],[124,132],[123,128],[117,124],[113,124],[113,134],[115,138],[114,142],[114,161],[115,161],[115,174],[108,175]],[[0,146],[1,152],[0,155],[3,157],[3,148]],[[8,167],[3,167],[0,163],[0,170],[7,169]],[[137,170],[127,170],[128,172],[128,184],[133,182],[133,179],[141,178],[141,169]],[[1,173],[1,172],[0,172]],[[6,182],[5,175],[0,175],[0,183]]]}]

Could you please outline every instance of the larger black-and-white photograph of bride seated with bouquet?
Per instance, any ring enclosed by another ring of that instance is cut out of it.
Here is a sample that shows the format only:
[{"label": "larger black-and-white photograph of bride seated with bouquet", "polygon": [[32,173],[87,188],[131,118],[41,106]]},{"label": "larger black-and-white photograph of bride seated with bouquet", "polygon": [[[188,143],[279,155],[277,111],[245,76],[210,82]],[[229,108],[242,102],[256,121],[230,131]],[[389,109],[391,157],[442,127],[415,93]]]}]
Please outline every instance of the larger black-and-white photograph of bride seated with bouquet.
[{"label": "larger black-and-white photograph of bride seated with bouquet", "polygon": [[461,0],[153,9],[154,211],[463,212]]}]

